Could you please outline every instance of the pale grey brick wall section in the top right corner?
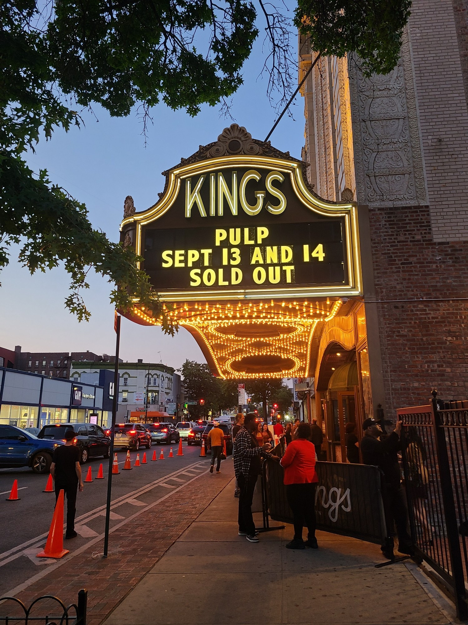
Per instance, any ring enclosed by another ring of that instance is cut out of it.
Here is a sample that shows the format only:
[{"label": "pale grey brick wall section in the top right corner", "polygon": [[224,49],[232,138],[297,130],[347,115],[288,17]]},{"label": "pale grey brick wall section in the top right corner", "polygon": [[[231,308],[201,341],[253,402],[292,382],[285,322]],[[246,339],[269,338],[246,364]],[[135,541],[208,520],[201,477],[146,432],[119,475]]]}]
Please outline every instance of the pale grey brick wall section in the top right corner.
[{"label": "pale grey brick wall section in the top right corner", "polygon": [[[466,8],[466,0],[454,4]],[[414,0],[408,22],[431,221],[439,241],[468,241],[466,58],[459,50],[459,41],[462,49],[467,44],[464,21],[466,14],[454,11],[452,0]]]}]

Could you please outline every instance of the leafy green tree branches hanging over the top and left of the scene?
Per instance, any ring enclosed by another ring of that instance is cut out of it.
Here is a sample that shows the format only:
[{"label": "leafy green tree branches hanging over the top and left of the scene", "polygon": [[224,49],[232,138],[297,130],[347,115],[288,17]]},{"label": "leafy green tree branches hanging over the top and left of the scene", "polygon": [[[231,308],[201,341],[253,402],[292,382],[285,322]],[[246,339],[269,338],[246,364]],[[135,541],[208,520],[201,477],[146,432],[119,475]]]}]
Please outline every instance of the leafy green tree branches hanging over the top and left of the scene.
[{"label": "leafy green tree branches hanging over the top and left of the scene", "polygon": [[[369,71],[397,61],[409,0],[298,0],[295,24],[322,54],[355,51]],[[285,7],[262,0],[2,0],[0,2],[0,269],[9,247],[32,273],[63,263],[71,277],[66,305],[88,319],[80,291],[90,268],[163,314],[137,256],[93,229],[87,209],[33,173],[24,153],[52,131],[80,125],[80,108],[101,104],[112,116],[135,106],[145,128],[159,101],[195,115],[235,93],[264,20],[268,94],[276,103],[295,87],[296,60]],[[293,40],[295,37],[293,36]],[[163,318],[165,331],[175,327]]]}]

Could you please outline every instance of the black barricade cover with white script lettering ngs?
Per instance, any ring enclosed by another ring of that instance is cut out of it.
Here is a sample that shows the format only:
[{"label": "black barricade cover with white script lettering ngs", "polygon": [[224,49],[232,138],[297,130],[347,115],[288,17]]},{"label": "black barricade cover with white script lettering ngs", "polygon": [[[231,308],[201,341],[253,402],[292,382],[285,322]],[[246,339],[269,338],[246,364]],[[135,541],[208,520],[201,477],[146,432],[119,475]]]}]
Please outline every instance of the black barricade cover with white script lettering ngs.
[{"label": "black barricade cover with white script lettering ngs", "polygon": [[[268,508],[273,521],[293,522],[283,484],[284,469],[265,462]],[[315,511],[317,529],[380,543],[386,525],[377,467],[344,462],[317,462]]]}]

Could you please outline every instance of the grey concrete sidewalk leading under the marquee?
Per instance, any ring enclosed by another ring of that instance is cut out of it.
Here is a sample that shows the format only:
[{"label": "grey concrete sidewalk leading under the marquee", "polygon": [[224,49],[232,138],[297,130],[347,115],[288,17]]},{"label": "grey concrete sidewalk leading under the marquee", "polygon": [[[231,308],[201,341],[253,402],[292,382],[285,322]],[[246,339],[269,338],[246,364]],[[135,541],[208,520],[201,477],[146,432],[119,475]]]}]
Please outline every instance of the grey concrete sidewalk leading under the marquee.
[{"label": "grey concrete sidewalk leading under the marquee", "polygon": [[[232,462],[222,469],[232,474]],[[285,548],[290,525],[260,534],[258,544],[247,542],[237,535],[237,501],[230,482],[105,625],[455,622],[451,604],[416,565],[375,569],[383,561],[376,545],[318,532],[317,551],[291,551]]]}]

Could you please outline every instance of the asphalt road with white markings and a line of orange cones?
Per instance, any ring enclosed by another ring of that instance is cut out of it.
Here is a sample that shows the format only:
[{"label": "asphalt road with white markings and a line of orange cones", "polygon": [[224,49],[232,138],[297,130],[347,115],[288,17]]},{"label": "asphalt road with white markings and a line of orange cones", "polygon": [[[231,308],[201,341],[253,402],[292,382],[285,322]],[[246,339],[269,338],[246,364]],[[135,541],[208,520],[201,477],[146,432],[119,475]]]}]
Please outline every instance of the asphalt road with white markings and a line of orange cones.
[{"label": "asphalt road with white markings and a line of orange cones", "polygon": [[[151,461],[154,449],[158,457],[156,462]],[[159,459],[161,449],[164,460]],[[174,445],[172,458],[168,457],[169,450],[170,447],[165,445],[153,446],[149,451],[140,450],[140,461],[146,451],[148,464],[134,467],[132,471],[122,470],[126,451],[117,452],[120,474],[112,476],[111,529],[209,467],[207,459],[199,457],[198,446],[184,443],[184,455],[176,456],[177,445]],[[136,456],[136,452],[130,452],[132,466]],[[101,462],[104,479],[97,480],[95,476]],[[94,481],[85,483],[84,491],[78,493],[76,531],[79,536],[64,541],[64,547],[70,551],[85,546],[104,532],[108,462],[103,458],[93,458],[82,465],[83,479],[90,466]],[[54,493],[42,492],[47,477],[36,475],[27,468],[0,469],[0,597],[27,583],[37,574],[39,567],[56,562],[54,559],[36,558],[36,553],[46,543],[54,511]],[[14,479],[18,481],[18,496],[21,499],[6,501]]]}]

